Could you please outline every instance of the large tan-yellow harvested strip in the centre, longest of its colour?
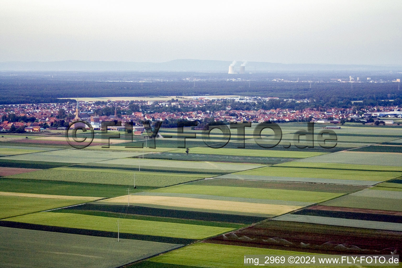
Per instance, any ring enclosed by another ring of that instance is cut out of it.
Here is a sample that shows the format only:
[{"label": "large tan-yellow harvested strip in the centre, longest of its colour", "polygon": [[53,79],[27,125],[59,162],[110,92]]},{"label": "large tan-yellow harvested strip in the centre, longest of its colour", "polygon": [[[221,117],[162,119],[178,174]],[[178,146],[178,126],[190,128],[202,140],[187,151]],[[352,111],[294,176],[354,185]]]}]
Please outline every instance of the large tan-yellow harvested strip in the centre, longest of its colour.
[{"label": "large tan-yellow harvested strip in the centre, longest of its colour", "polygon": [[[128,195],[118,196],[102,202],[107,203],[127,203]],[[237,201],[226,200],[209,200],[191,197],[176,197],[176,196],[147,196],[147,195],[130,195],[130,203],[137,204],[150,204],[169,207],[186,207],[193,209],[213,209],[220,211],[236,211],[246,213],[260,213],[270,215],[281,215],[300,209],[299,206],[287,206],[287,205],[271,205],[260,203],[247,203]]]}]

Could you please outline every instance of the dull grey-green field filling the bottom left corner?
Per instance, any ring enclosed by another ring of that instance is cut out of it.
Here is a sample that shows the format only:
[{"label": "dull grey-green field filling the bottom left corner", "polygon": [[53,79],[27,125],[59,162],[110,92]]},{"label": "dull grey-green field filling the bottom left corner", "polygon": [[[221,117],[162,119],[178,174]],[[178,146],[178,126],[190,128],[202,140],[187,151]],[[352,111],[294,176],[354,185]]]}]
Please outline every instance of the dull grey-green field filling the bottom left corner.
[{"label": "dull grey-green field filling the bottom left corner", "polygon": [[0,227],[0,266],[110,268],[180,245]]}]

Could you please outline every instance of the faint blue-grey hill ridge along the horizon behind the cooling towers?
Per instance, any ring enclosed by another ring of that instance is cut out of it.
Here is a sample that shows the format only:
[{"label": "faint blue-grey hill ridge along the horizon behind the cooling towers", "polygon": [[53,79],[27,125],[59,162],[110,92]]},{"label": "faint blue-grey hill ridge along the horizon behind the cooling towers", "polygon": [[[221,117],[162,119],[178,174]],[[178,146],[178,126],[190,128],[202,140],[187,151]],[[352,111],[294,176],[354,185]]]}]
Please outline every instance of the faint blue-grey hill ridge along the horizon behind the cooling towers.
[{"label": "faint blue-grey hill ridge along the horizon behind the cooling towers", "polygon": [[[0,62],[1,71],[206,71],[228,72],[231,61],[175,59],[166,62],[133,61],[4,61]],[[239,70],[242,62],[235,65]],[[246,73],[261,71],[402,71],[402,65],[350,65],[350,64],[284,64],[250,61]]]}]

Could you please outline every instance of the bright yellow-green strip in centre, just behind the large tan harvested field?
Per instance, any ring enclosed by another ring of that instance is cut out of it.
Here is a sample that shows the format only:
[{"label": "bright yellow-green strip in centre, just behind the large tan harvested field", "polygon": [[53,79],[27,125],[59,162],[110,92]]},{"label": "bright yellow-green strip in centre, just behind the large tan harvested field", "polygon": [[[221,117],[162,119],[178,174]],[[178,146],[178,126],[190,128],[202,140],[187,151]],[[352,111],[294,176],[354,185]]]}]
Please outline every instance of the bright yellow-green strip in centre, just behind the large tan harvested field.
[{"label": "bright yellow-green strip in centre, just behind the large tan harvested field", "polygon": [[342,195],[330,192],[311,192],[311,191],[299,191],[299,190],[232,187],[232,186],[205,186],[205,185],[189,185],[189,184],[156,189],[152,190],[151,192],[209,194],[216,196],[289,200],[289,201],[299,201],[309,203],[318,203]]}]

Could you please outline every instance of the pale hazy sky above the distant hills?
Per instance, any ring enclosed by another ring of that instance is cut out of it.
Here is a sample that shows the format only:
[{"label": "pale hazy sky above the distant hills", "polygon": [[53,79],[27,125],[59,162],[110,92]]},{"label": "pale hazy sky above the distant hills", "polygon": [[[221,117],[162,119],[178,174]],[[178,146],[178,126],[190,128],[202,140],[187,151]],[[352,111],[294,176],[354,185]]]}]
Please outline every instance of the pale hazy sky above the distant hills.
[{"label": "pale hazy sky above the distant hills", "polygon": [[401,0],[0,0],[0,61],[402,64]]}]

